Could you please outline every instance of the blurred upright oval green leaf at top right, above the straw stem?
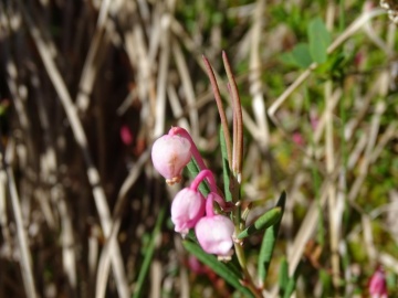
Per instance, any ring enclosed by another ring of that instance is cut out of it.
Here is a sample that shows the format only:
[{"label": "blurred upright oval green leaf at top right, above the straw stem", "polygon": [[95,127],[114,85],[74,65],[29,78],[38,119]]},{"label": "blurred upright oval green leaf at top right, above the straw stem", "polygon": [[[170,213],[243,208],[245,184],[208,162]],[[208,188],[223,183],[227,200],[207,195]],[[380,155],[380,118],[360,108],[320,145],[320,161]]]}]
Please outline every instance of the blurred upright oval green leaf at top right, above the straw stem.
[{"label": "blurred upright oval green leaf at top right, above the straw stem", "polygon": [[325,63],[327,60],[327,47],[332,42],[332,38],[321,18],[316,18],[310,22],[307,33],[310,53],[313,61],[320,64]]}]

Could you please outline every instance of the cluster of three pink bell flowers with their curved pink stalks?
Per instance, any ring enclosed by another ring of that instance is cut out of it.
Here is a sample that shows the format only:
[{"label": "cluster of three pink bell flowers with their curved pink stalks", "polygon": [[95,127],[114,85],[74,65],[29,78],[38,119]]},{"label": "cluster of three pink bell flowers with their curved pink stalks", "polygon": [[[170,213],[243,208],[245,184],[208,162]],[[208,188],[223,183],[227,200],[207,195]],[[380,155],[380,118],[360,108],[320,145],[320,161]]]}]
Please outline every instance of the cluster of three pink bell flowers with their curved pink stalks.
[{"label": "cluster of three pink bell flowers with their curved pink stalks", "polygon": [[[197,240],[202,249],[214,254],[221,259],[229,259],[233,253],[234,225],[221,214],[216,214],[213,202],[227,210],[227,202],[217,192],[212,172],[205,162],[187,130],[172,127],[154,142],[151,159],[155,169],[166,179],[168,184],[178,183],[188,162],[195,159],[200,172],[188,188],[180,190],[171,204],[171,221],[175,231],[185,237],[190,228],[195,228]],[[210,192],[205,195],[199,185],[207,182]]]}]

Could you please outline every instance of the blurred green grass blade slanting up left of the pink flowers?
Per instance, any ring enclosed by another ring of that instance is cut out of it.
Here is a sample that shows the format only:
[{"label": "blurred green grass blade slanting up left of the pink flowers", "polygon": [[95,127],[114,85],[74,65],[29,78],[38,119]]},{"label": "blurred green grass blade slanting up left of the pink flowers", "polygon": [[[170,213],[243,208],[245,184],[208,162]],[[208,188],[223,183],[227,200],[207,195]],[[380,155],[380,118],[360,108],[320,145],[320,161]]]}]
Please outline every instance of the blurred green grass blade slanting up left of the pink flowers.
[{"label": "blurred green grass blade slanting up left of the pink flowers", "polygon": [[160,233],[161,223],[163,223],[164,217],[165,217],[165,210],[166,210],[166,207],[163,207],[160,210],[160,212],[159,212],[159,215],[157,216],[155,228],[154,228],[154,231],[151,233],[150,242],[149,242],[148,247],[146,249],[144,260],[143,260],[143,265],[142,265],[140,269],[139,269],[139,274],[138,274],[137,283],[136,283],[136,286],[135,286],[135,289],[134,289],[133,298],[140,297],[143,286],[144,286],[144,283],[145,283],[145,277],[148,274],[150,262],[151,262],[151,258],[154,256],[156,237]]}]

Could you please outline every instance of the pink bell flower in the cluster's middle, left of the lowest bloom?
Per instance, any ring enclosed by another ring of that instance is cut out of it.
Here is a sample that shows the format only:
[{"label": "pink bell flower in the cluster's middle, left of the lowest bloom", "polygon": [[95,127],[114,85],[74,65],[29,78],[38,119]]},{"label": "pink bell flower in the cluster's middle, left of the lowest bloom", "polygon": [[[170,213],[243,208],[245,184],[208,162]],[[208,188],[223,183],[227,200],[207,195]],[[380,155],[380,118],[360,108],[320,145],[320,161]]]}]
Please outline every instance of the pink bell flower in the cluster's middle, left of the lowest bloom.
[{"label": "pink bell flower in the cluster's middle, left of the lowest bloom", "polygon": [[192,189],[180,190],[171,204],[171,221],[175,231],[185,237],[205,214],[205,198]]}]

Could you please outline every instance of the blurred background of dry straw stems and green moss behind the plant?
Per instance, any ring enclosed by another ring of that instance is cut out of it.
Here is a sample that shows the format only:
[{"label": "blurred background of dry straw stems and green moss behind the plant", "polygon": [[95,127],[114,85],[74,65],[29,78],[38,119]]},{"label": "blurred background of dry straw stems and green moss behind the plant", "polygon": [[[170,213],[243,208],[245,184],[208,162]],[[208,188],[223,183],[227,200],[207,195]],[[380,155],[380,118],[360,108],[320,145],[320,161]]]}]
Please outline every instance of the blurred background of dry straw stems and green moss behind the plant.
[{"label": "blurred background of dry straw stems and green moss behind the plant", "polygon": [[150,162],[181,126],[222,180],[202,63],[231,123],[222,50],[248,221],[287,193],[266,290],[285,257],[296,297],[368,297],[377,268],[398,297],[398,40],[381,2],[0,1],[0,297],[240,297],[182,248],[169,205],[187,180],[168,188]]}]

